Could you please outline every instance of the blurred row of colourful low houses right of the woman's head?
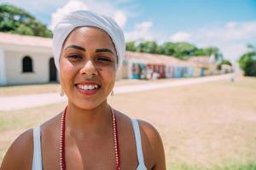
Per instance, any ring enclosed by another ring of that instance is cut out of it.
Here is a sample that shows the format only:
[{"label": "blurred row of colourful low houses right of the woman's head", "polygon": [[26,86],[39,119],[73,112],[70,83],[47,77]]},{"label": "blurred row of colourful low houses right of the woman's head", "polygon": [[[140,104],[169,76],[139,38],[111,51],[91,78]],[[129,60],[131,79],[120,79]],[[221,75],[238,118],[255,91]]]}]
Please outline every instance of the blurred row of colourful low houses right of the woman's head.
[{"label": "blurred row of colourful low houses right of the woman's head", "polygon": [[218,74],[216,65],[207,56],[181,60],[166,55],[126,52],[119,78],[160,79],[214,74]]}]

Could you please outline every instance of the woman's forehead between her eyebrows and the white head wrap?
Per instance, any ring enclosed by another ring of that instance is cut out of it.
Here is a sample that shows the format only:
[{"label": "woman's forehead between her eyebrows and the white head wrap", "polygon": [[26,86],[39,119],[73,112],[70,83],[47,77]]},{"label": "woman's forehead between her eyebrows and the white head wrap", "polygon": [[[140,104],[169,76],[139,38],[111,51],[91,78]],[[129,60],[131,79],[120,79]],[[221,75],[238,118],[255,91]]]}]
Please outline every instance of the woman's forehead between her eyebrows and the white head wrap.
[{"label": "woman's forehead between her eyebrows and the white head wrap", "polygon": [[[75,28],[67,37],[63,44],[63,48],[67,45],[77,44],[84,45],[87,48],[89,46],[97,46],[98,48],[113,48],[114,45],[111,37],[109,37],[106,31],[100,28],[83,26]],[[95,47],[95,48],[97,48]]]}]

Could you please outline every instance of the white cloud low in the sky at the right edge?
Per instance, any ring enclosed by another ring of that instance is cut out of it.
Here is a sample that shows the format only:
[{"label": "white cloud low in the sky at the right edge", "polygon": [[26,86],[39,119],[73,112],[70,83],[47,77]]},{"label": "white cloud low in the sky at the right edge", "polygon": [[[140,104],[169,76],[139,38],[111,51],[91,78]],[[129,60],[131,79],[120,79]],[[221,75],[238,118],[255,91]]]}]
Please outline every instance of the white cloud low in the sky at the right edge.
[{"label": "white cloud low in the sky at the right edge", "polygon": [[206,26],[196,31],[178,31],[172,41],[193,42],[198,47],[217,46],[224,57],[235,61],[247,51],[247,42],[256,42],[256,21],[228,22],[224,26]]}]

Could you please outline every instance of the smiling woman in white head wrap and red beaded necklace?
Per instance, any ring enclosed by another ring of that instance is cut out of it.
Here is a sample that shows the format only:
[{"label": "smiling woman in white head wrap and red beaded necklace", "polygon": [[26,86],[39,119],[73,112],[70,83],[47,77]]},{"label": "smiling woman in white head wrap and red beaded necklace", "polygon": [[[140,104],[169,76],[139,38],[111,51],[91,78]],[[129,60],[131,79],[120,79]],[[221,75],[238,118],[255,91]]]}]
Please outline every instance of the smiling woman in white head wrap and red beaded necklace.
[{"label": "smiling woman in white head wrap and red beaded necklace", "polygon": [[67,14],[55,26],[53,49],[67,107],[21,134],[5,169],[166,169],[159,133],[108,105],[125,55],[125,38],[110,18]]}]

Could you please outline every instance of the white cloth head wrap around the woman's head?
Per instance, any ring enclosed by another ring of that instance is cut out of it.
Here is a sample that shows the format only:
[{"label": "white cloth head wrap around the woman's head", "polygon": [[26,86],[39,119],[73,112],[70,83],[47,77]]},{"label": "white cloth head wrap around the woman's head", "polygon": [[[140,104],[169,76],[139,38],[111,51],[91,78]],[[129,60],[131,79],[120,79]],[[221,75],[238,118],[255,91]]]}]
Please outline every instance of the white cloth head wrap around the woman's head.
[{"label": "white cloth head wrap around the woman's head", "polygon": [[125,37],[121,28],[111,18],[87,10],[78,10],[65,15],[53,30],[53,52],[56,68],[60,71],[60,57],[63,42],[74,28],[95,26],[106,31],[112,38],[118,56],[118,71],[125,56]]}]

